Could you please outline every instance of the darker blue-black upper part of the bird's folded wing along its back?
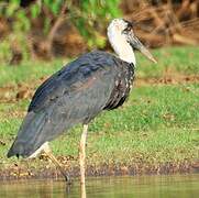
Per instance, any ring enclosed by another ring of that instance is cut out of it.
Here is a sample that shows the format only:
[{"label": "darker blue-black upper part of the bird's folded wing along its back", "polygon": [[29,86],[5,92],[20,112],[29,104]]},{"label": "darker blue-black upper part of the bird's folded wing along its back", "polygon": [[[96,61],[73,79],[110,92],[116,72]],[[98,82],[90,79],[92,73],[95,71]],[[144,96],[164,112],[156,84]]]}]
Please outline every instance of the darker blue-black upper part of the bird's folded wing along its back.
[{"label": "darker blue-black upper part of the bird's folded wing along its back", "polygon": [[[95,86],[98,81],[98,89],[103,84],[111,86],[109,80],[113,79],[114,75],[113,58],[114,56],[110,54],[96,51],[66,65],[38,87],[27,111],[40,111],[55,103],[63,96],[84,91],[84,87],[89,86],[89,82],[90,86]],[[104,81],[103,78],[107,76],[110,78]],[[92,85],[91,80],[96,82]],[[95,91],[98,92],[98,90]]]}]

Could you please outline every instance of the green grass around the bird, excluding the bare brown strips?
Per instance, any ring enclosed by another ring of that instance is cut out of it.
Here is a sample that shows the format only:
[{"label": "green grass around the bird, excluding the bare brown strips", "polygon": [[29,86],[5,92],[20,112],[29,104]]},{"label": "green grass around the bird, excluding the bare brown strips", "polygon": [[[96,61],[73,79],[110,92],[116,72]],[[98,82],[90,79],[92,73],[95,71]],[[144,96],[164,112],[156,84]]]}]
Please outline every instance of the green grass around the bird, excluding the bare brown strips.
[{"label": "green grass around the bird, excluding the bare brown strips", "polygon": [[[174,47],[155,51],[158,65],[141,58],[137,75],[163,76],[170,67],[178,75],[199,73],[197,47]],[[169,58],[165,58],[169,54]],[[191,54],[191,55],[190,55]],[[191,56],[191,57],[189,57]],[[140,57],[140,55],[139,55]],[[187,58],[188,57],[188,58]],[[60,67],[62,61],[29,63],[29,67],[0,67],[3,75],[0,85],[29,84],[47,76]],[[29,69],[27,69],[29,68]],[[10,76],[11,75],[11,76]],[[36,86],[36,84],[35,84]],[[148,85],[135,87],[128,102],[114,111],[101,113],[89,125],[88,164],[195,162],[199,160],[199,84]],[[0,158],[5,164],[5,154],[22,121],[30,100],[0,103]],[[19,113],[21,112],[21,113]],[[81,125],[53,141],[56,155],[78,156]]]}]

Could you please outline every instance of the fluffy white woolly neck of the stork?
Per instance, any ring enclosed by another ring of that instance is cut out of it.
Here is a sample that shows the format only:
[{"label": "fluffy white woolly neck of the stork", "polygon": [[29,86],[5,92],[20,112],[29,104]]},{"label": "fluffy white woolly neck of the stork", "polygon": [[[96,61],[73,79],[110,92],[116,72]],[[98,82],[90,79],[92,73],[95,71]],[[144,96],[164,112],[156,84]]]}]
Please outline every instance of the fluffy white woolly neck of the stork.
[{"label": "fluffy white woolly neck of the stork", "polygon": [[135,66],[136,61],[133,48],[128,43],[125,35],[122,34],[121,30],[119,30],[113,23],[108,26],[108,37],[112,48],[118,54],[120,59],[128,63],[133,63]]}]

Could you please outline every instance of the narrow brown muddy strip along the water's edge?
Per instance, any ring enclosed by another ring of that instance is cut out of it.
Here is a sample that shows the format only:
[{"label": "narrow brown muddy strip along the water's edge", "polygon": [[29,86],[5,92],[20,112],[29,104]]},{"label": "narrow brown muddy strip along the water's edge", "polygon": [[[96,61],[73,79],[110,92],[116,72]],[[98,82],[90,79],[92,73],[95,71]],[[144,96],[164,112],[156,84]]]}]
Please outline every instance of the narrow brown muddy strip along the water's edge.
[{"label": "narrow brown muddy strip along the water's edge", "polygon": [[[79,176],[79,166],[64,166],[71,178]],[[88,165],[87,176],[124,176],[124,175],[161,175],[161,174],[199,173],[199,162],[150,164],[101,164]],[[19,179],[47,179],[63,178],[54,166],[29,167],[26,165],[12,164],[8,168],[0,168],[0,180]],[[64,178],[63,178],[64,179]]]}]

